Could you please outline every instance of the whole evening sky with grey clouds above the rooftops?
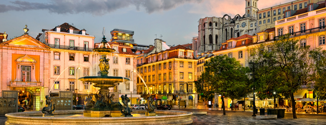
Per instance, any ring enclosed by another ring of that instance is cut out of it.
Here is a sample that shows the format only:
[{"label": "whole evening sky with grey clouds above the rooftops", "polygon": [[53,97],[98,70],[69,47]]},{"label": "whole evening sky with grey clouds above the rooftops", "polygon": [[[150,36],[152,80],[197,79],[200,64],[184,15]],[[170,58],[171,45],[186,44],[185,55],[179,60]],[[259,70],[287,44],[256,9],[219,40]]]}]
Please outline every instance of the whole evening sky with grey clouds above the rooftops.
[{"label": "whole evening sky with grey clouds above the rooftops", "polygon": [[[258,0],[259,9],[293,0]],[[111,38],[114,28],[133,30],[135,43],[153,44],[160,38],[169,45],[191,43],[198,36],[198,20],[234,17],[245,13],[245,0],[0,0],[0,32],[21,36],[28,25],[36,37],[42,29],[64,22],[86,29],[101,41],[102,30]],[[155,35],[156,34],[156,35]]]}]

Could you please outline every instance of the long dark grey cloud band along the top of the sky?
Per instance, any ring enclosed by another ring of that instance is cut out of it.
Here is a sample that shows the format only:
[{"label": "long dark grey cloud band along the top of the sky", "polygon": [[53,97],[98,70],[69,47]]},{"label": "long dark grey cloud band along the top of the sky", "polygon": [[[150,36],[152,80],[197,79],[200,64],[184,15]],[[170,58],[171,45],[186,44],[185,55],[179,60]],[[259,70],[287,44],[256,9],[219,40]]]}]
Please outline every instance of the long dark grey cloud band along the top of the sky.
[{"label": "long dark grey cloud band along the top of the sky", "polygon": [[136,6],[137,10],[144,8],[147,13],[152,13],[170,10],[187,3],[198,3],[201,1],[202,0],[50,0],[48,3],[44,3],[16,0],[11,1],[12,5],[0,4],[0,12],[48,9],[50,12],[58,14],[91,13],[94,15],[101,15],[120,8]]}]

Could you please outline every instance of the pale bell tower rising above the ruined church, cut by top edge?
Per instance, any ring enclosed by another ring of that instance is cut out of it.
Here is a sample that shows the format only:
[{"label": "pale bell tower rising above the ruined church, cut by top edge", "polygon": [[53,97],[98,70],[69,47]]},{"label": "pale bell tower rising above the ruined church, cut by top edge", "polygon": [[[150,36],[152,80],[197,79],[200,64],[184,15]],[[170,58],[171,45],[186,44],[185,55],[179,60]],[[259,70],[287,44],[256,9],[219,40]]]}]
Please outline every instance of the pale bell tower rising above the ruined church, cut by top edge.
[{"label": "pale bell tower rising above the ruined church, cut by top edge", "polygon": [[246,0],[246,17],[257,17],[257,2],[258,0]]}]

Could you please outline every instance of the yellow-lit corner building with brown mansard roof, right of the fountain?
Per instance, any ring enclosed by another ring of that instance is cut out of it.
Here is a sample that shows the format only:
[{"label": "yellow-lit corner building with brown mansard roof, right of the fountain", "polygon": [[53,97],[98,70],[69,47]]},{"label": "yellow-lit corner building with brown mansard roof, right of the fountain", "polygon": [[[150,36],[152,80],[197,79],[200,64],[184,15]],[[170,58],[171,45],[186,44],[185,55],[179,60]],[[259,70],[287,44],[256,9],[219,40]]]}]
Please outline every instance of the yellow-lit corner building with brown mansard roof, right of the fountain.
[{"label": "yellow-lit corner building with brown mansard roof, right of the fountain", "polygon": [[[145,103],[150,93],[158,100],[158,104],[178,105],[180,94],[181,106],[184,106],[185,102],[187,106],[197,105],[198,95],[193,82],[197,79],[197,59],[193,57],[192,49],[177,45],[147,56],[140,55],[137,60],[141,60],[137,63],[137,72],[141,76],[137,76],[140,103]],[[180,89],[183,84],[183,89]]]}]

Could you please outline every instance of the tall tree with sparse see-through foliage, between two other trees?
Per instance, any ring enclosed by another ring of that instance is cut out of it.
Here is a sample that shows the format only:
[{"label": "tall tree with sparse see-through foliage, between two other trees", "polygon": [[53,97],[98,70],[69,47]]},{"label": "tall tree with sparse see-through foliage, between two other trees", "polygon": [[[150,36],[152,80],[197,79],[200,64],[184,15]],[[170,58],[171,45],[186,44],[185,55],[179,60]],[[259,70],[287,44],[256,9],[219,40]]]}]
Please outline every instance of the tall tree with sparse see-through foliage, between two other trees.
[{"label": "tall tree with sparse see-through foliage, between two other trees", "polygon": [[298,40],[289,36],[289,34],[285,34],[280,36],[279,40],[272,42],[267,50],[270,52],[269,56],[262,56],[260,59],[275,66],[273,72],[278,76],[279,82],[271,83],[279,88],[280,94],[291,98],[293,118],[297,118],[293,93],[300,89],[301,85],[309,82],[311,70],[308,53],[310,46],[300,46]]}]

